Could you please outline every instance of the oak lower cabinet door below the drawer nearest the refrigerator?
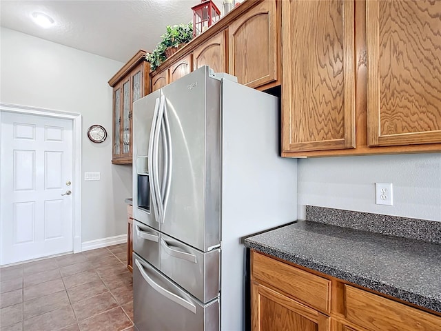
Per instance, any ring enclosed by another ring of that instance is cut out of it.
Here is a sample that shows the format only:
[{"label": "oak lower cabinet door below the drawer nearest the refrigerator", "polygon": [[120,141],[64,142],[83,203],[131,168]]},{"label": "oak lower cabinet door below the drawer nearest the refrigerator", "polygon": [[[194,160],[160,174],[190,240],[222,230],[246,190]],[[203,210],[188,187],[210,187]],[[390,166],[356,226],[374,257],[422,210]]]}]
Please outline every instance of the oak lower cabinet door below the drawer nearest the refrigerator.
[{"label": "oak lower cabinet door below the drawer nearest the refrigerator", "polygon": [[285,294],[252,283],[253,331],[330,331],[330,319]]}]

